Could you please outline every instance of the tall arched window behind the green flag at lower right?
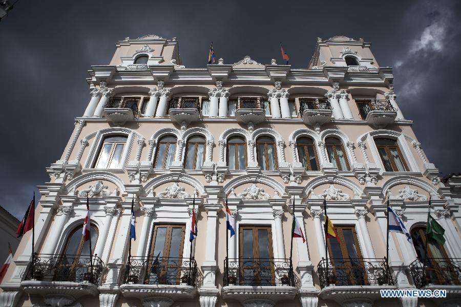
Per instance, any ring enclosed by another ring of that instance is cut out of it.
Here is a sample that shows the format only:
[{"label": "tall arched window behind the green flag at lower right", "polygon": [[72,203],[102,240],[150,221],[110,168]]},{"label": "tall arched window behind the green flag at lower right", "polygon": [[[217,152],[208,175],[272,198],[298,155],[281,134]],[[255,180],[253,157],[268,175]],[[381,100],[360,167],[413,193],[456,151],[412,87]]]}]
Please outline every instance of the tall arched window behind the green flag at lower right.
[{"label": "tall arched window behind the green flag at lower right", "polygon": [[[434,284],[447,284],[447,280],[457,280],[458,277],[446,278],[453,274],[453,270],[448,254],[445,248],[438,241],[433,238],[427,240],[426,256],[426,227],[417,227],[411,230],[411,238],[413,239],[413,246],[416,250],[418,259],[423,262],[426,259],[426,278],[429,278],[430,283]],[[451,272],[450,272],[451,271]]]}]

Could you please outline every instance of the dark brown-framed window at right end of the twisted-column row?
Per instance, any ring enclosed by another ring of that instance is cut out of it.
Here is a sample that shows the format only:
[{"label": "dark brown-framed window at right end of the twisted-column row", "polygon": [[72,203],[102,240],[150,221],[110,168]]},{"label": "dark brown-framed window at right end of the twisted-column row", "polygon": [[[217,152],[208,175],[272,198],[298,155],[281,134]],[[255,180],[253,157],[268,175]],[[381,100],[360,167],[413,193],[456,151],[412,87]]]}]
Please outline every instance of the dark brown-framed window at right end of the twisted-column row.
[{"label": "dark brown-framed window at right end of the twisted-column row", "polygon": [[380,153],[381,161],[386,171],[408,171],[397,142],[392,139],[376,138],[374,143]]}]

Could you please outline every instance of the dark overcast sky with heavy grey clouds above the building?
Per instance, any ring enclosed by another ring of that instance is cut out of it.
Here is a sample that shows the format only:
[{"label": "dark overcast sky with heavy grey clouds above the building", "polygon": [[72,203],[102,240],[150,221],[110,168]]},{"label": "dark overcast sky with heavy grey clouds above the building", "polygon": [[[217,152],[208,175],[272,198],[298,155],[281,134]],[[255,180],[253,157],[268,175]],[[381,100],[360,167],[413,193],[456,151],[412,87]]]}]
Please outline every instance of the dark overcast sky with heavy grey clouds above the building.
[{"label": "dark overcast sky with heavy grey clouds above the building", "polygon": [[[201,3],[199,5],[199,3]],[[364,38],[394,68],[397,103],[430,162],[461,171],[461,1],[27,1],[0,22],[0,205],[22,218],[46,167],[60,158],[89,99],[91,65],[125,37],[177,37],[182,62],[204,68],[208,45],[306,68],[317,37]]]}]

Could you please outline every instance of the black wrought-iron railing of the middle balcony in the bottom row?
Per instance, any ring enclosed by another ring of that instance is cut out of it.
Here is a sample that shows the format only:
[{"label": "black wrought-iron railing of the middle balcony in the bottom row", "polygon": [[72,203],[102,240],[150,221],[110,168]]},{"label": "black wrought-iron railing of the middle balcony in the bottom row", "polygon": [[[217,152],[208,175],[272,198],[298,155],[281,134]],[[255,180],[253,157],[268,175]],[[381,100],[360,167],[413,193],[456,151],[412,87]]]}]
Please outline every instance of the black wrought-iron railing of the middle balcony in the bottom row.
[{"label": "black wrought-iron railing of the middle balcony in the bottom row", "polygon": [[223,281],[224,286],[295,287],[295,275],[290,259],[226,258]]}]

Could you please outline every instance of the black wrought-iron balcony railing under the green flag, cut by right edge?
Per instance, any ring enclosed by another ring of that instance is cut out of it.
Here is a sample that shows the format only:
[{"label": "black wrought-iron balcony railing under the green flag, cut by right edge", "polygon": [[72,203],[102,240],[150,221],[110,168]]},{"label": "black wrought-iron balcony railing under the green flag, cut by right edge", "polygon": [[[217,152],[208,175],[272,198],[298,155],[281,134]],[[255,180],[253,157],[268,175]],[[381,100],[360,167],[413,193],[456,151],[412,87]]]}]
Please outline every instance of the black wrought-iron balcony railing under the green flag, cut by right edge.
[{"label": "black wrought-iron balcony railing under the green flag, cut by right edge", "polygon": [[427,258],[426,266],[416,259],[409,268],[417,288],[428,284],[461,285],[461,258]]}]

